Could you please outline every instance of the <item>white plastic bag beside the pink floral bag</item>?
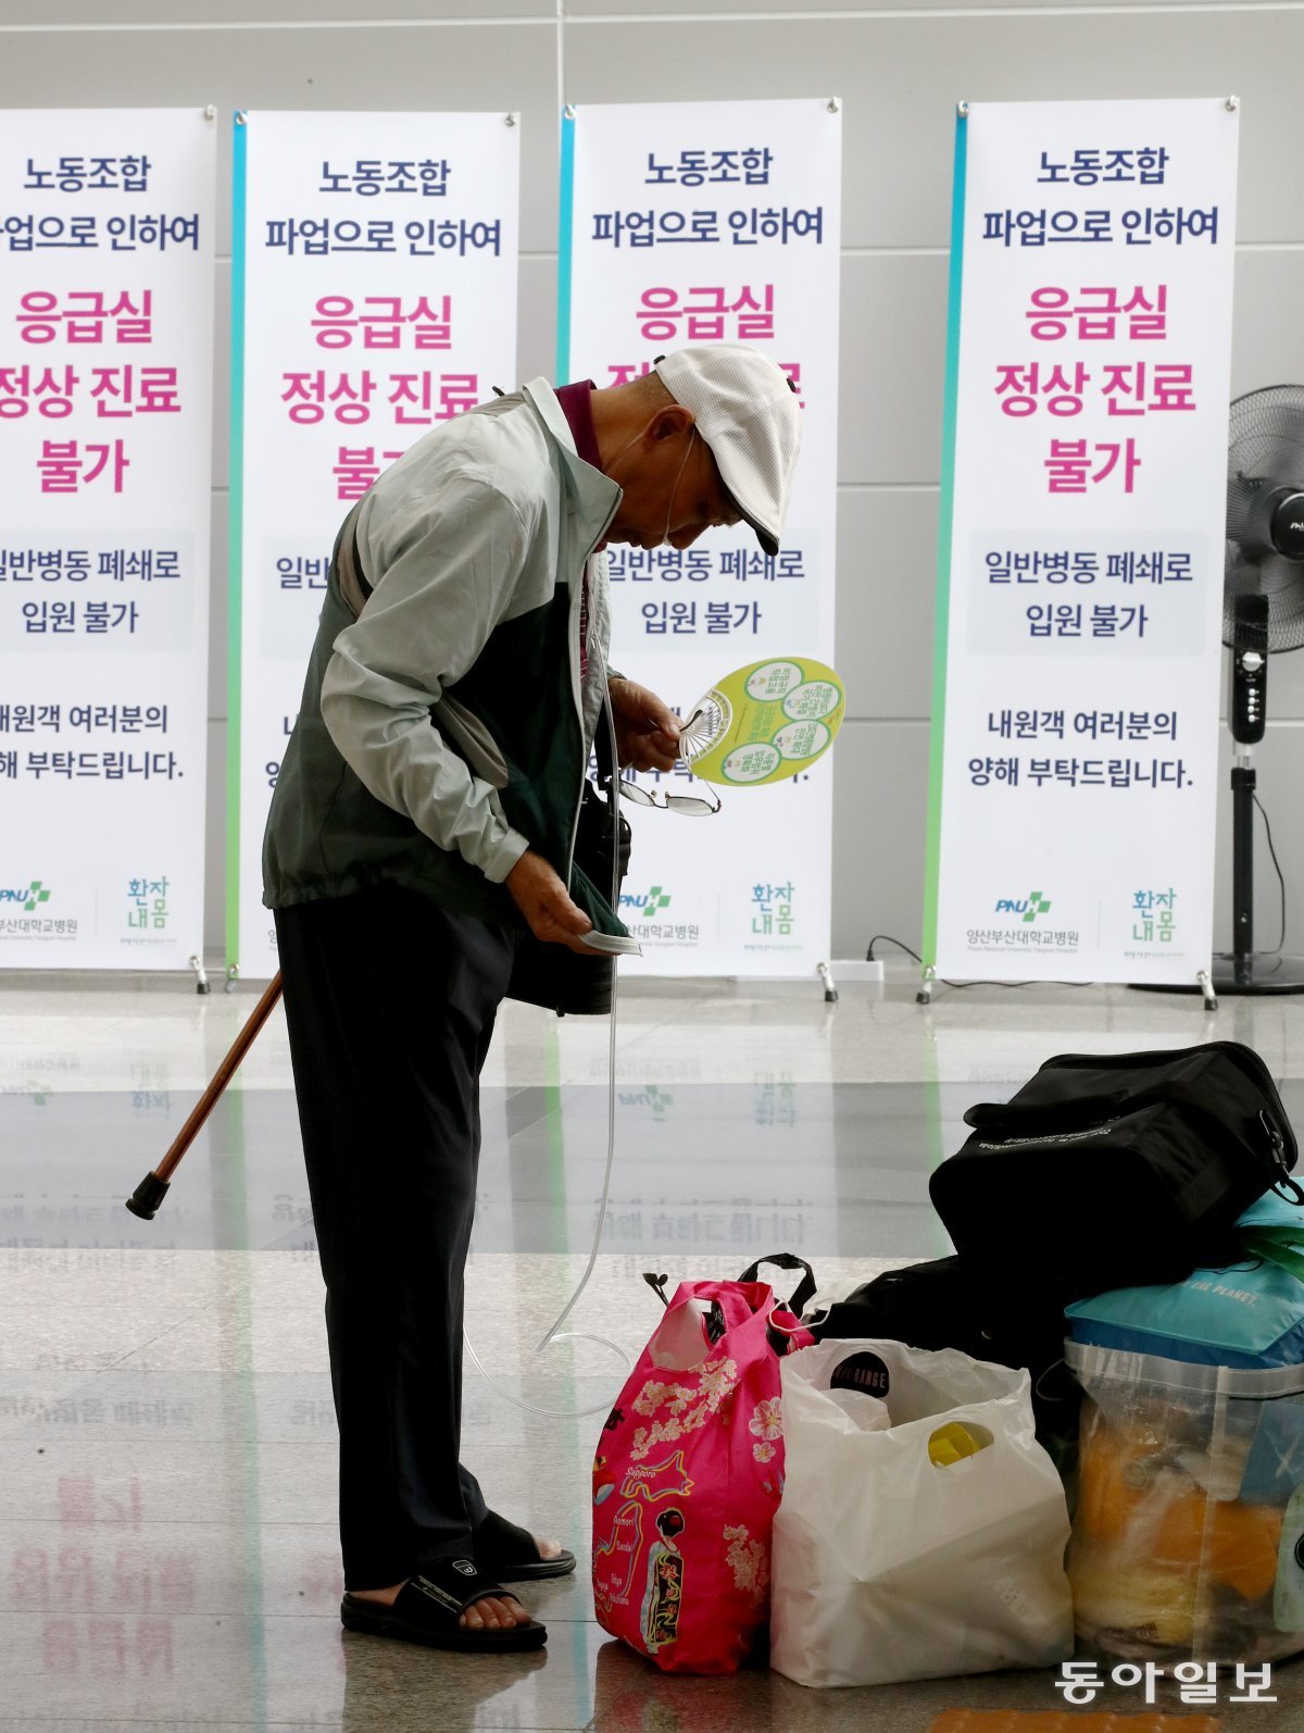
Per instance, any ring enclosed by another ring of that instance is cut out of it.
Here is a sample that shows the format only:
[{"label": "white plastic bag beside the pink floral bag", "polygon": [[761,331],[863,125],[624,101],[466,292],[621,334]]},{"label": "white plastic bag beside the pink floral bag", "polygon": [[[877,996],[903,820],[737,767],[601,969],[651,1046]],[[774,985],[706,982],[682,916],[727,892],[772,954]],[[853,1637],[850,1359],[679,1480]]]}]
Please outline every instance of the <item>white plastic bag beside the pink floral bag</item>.
[{"label": "white plastic bag beside the pink floral bag", "polygon": [[[781,1369],[772,1667],[887,1684],[1072,1655],[1068,1511],[1025,1371],[899,1341],[823,1341]],[[857,1425],[835,1373],[887,1404],[887,1430]]]}]

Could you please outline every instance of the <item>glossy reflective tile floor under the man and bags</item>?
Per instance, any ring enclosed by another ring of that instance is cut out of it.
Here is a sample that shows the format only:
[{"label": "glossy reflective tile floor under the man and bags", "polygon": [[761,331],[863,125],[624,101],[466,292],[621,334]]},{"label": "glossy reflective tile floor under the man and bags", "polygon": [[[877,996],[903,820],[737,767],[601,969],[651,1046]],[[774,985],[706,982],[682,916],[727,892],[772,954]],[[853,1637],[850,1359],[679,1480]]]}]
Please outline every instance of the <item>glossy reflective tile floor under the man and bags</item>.
[{"label": "glossy reflective tile floor under the man and bags", "polygon": [[[462,1728],[926,1733],[949,1707],[1055,1710],[1053,1674],[807,1691],[764,1669],[662,1678],[604,1638],[584,1568],[530,1600],[540,1657],[440,1657],[338,1624],[334,1416],[284,1024],[260,1036],[158,1220],[156,1165],[253,1005],[182,983],[0,976],[0,1733]],[[634,1353],[642,1270],[736,1275],[800,1251],[821,1284],[937,1256],[932,1168],[975,1100],[1065,1050],[1254,1045],[1304,1125],[1304,1000],[817,983],[627,984],[616,1170],[571,1324]],[[466,1457],[492,1501],[587,1551],[589,1461],[623,1378],[535,1345],[578,1279],[606,1158],[606,1024],[507,1007],[485,1076]],[[523,1412],[523,1399],[556,1414]],[[592,1409],[575,1416],[577,1409]],[[570,1416],[570,1418],[568,1418]],[[1169,1691],[1169,1695],[1164,1695]],[[1304,1660],[1224,1728],[1297,1730]],[[1094,1710],[1139,1714],[1139,1688]],[[1088,1712],[1088,1710],[1082,1710]],[[1126,1723],[1124,1723],[1126,1728]]]}]

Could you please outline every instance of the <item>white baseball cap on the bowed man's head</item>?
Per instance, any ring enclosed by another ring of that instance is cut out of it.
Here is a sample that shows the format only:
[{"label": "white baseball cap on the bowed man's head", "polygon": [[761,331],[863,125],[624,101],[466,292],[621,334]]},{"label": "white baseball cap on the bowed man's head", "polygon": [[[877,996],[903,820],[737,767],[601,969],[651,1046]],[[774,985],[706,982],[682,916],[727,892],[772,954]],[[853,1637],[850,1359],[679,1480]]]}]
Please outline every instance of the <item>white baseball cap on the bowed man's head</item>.
[{"label": "white baseball cap on the bowed man's head", "polygon": [[655,371],[691,409],[720,480],[767,555],[779,551],[802,440],[802,411],[783,367],[746,343],[696,343],[660,355]]}]

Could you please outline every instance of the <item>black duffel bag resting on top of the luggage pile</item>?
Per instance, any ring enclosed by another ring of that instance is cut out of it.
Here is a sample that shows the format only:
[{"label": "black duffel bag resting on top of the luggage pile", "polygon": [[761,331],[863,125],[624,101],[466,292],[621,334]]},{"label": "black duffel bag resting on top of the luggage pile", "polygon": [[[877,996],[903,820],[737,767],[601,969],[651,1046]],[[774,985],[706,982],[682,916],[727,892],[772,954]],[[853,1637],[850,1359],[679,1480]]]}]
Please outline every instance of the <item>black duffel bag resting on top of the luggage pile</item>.
[{"label": "black duffel bag resting on top of the luggage pile", "polygon": [[1304,1203],[1281,1097],[1240,1042],[1062,1054],[965,1120],[973,1135],[928,1191],[965,1269],[1013,1317],[1221,1269],[1256,1198]]}]

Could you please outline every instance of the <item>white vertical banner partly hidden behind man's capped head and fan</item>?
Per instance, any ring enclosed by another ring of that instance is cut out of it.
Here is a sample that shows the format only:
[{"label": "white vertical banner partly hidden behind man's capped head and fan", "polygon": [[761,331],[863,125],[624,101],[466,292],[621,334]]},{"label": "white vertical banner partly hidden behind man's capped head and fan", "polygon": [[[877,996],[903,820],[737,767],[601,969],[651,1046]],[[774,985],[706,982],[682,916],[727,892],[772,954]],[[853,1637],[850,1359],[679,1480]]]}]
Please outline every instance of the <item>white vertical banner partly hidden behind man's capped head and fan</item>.
[{"label": "white vertical banner partly hidden behind man's capped head and fan", "polygon": [[[750,343],[802,399],[783,546],[748,529],[608,549],[611,664],[682,714],[771,657],[833,660],[842,111],[580,107],[563,121],[559,366],[620,385],[689,343]],[[668,778],[684,789],[679,766]],[[715,818],[630,808],[620,915],[649,974],[800,976],[828,958],[833,775],[727,787]]]}]

